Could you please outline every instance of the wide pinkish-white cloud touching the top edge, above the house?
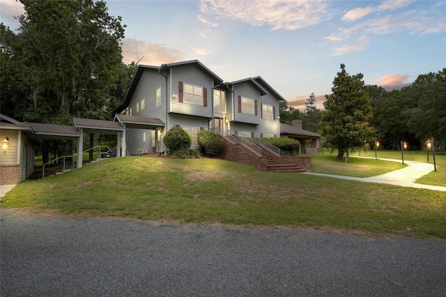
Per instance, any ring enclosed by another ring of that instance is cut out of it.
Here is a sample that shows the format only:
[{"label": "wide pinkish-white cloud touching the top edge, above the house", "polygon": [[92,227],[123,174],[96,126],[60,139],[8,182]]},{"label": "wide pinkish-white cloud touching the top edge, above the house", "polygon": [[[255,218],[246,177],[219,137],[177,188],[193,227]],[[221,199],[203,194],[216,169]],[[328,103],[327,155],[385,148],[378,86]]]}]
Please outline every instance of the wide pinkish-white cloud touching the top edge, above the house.
[{"label": "wide pinkish-white cloud touching the top edge, above the house", "polygon": [[272,30],[296,30],[332,16],[325,1],[218,1],[201,0],[201,13],[220,19],[240,20]]}]

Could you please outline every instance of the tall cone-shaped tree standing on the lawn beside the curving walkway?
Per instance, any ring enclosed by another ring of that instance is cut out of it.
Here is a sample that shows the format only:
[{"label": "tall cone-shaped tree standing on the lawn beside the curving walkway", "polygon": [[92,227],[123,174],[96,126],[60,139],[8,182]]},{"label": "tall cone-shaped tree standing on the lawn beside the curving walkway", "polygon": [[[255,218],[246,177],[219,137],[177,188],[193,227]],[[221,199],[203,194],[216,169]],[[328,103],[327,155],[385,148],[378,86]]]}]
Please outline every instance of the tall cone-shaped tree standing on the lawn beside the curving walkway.
[{"label": "tall cone-shaped tree standing on the lawn beside the curving walkway", "polygon": [[372,116],[371,100],[364,89],[363,75],[348,75],[345,65],[334,77],[332,94],[326,95],[323,103],[326,112],[323,121],[323,134],[335,148],[337,158],[346,153],[345,161],[351,148],[363,146],[374,133],[369,125]]}]

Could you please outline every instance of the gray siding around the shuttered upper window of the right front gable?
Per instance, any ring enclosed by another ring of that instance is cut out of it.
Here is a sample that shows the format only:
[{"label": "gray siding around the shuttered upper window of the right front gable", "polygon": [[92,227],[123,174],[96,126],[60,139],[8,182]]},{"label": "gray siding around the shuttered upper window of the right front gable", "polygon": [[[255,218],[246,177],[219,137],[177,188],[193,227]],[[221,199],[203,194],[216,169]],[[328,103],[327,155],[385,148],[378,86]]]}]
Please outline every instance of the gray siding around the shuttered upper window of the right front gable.
[{"label": "gray siding around the shuttered upper window of the right front gable", "polygon": [[[233,86],[234,121],[240,123],[260,124],[260,92],[249,82],[241,82]],[[257,100],[257,115],[238,112],[238,96]]]}]

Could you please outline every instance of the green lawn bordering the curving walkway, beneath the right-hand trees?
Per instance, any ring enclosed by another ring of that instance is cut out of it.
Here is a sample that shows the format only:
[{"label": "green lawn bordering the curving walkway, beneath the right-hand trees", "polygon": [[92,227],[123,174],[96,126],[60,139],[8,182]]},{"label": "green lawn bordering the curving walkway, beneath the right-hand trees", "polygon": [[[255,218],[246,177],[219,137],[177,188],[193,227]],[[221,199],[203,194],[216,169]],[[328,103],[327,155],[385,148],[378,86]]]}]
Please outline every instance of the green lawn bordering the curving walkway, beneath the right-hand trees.
[{"label": "green lawn bordering the curving walkway, beneath the right-hand trees", "polygon": [[[404,151],[405,161],[427,162],[426,152]],[[337,152],[331,153],[324,150],[319,155],[306,155],[312,157],[312,172],[325,174],[339,174],[345,176],[369,177],[385,174],[393,170],[403,168],[401,151],[379,150],[378,158],[401,160],[401,162],[387,162],[375,160],[375,151],[352,153],[351,157],[361,156],[366,158],[350,158],[348,163],[344,160],[336,160]],[[433,156],[429,153],[429,164],[433,170]],[[406,166],[407,163],[404,165]],[[446,152],[436,152],[436,172],[431,172],[419,178],[416,182],[424,185],[440,185],[446,187]]]}]

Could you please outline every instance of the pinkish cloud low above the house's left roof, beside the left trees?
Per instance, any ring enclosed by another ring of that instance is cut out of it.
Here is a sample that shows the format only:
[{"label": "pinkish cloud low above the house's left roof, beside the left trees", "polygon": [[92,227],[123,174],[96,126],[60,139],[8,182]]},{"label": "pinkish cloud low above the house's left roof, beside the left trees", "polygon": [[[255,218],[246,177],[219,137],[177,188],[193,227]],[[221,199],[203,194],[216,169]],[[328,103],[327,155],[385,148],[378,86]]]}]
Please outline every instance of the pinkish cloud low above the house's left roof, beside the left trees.
[{"label": "pinkish cloud low above the house's left roof, beside the left trees", "polygon": [[[137,50],[138,48],[138,50]],[[166,45],[156,43],[146,43],[137,40],[137,47],[135,40],[131,38],[123,39],[123,63],[130,64],[132,61],[139,61],[140,64],[160,66],[163,63],[172,63],[176,61],[183,61],[187,54],[182,50],[177,50]]]}]

